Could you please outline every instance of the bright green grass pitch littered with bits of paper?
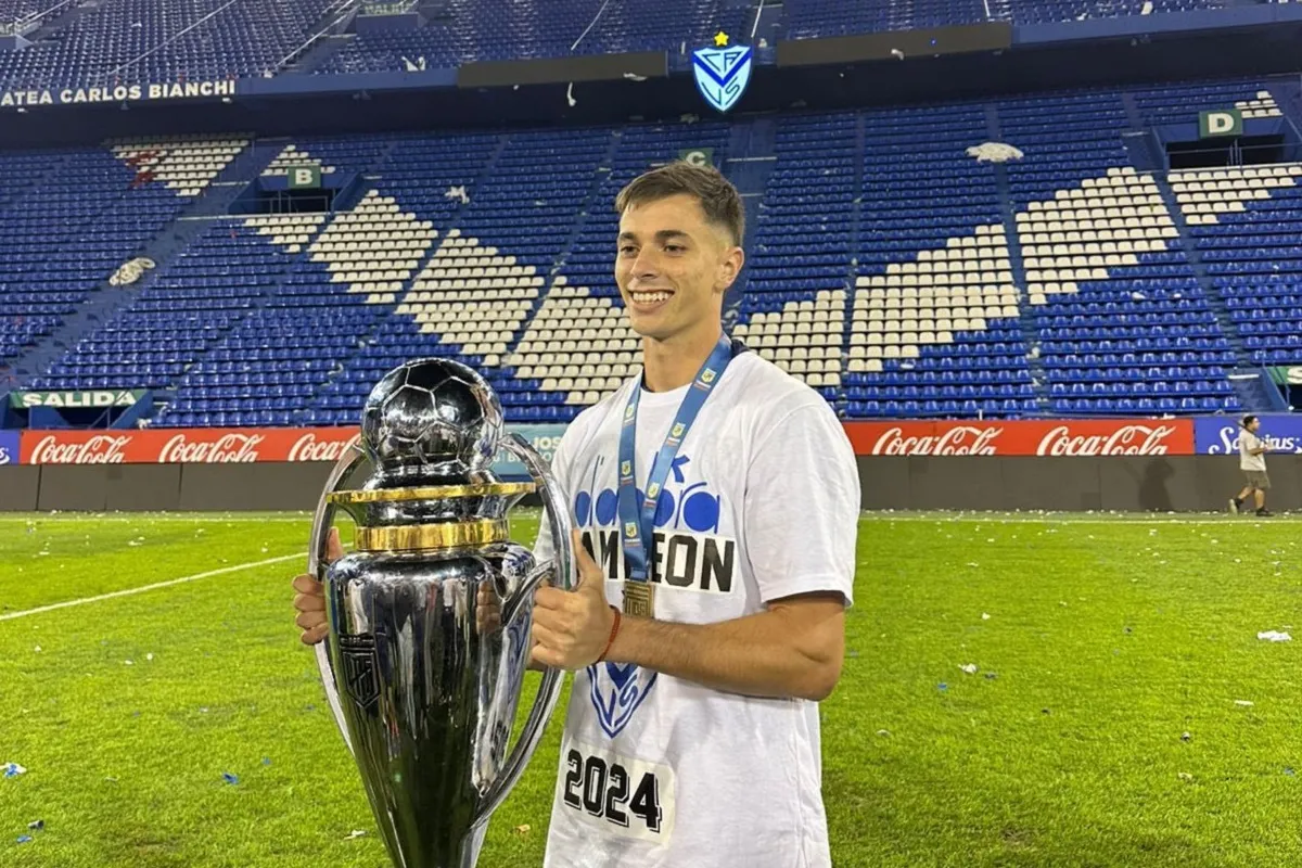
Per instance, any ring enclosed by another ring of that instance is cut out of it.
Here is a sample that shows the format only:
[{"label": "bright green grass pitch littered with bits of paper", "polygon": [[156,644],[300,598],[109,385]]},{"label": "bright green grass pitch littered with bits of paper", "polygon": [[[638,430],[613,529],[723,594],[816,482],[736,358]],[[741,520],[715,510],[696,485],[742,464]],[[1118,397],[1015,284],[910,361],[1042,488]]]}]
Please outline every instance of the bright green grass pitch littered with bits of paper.
[{"label": "bright green grass pitch littered with bits of paper", "polygon": [[[0,518],[0,764],[27,769],[0,777],[0,864],[388,865],[296,638],[307,526]],[[866,517],[823,704],[835,864],[1302,864],[1298,530]],[[484,868],[542,863],[560,722]]]}]

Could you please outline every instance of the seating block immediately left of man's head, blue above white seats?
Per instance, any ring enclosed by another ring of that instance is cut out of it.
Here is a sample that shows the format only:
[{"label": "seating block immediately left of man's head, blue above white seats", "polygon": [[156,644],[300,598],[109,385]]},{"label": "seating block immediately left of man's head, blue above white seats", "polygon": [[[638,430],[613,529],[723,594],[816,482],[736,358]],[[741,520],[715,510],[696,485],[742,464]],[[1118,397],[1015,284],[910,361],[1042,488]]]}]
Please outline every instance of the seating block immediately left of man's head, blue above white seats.
[{"label": "seating block immediately left of man's head, blue above white seats", "polygon": [[538,381],[538,398],[566,405],[544,405],[536,413],[573,415],[574,407],[609,394],[641,364],[641,344],[615,284],[620,190],[652,165],[676,159],[682,148],[713,148],[720,160],[727,141],[728,126],[719,122],[634,125],[618,135],[609,170],[599,174],[552,290],[509,360],[517,377]]}]

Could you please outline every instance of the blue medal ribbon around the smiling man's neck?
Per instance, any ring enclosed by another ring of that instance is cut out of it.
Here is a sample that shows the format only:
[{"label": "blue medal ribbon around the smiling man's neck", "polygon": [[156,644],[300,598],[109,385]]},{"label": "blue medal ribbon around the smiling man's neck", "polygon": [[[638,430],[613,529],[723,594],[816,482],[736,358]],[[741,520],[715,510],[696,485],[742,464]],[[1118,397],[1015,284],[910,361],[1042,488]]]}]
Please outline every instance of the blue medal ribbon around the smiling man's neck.
[{"label": "blue medal ribbon around the smiling man's neck", "polygon": [[[745,349],[745,347],[738,347]],[[624,560],[628,578],[631,582],[650,582],[652,562],[651,554],[655,547],[655,513],[660,504],[660,493],[669,479],[673,468],[673,459],[678,455],[678,446],[687,437],[687,432],[700,414],[706,398],[723,379],[724,370],[734,355],[733,342],[728,336],[719,338],[719,344],[710,353],[710,358],[697,371],[686,397],[678,405],[678,414],[669,427],[669,435],[656,453],[651,463],[651,474],[647,479],[641,509],[638,506],[637,479],[637,428],[638,428],[638,402],[642,398],[642,383],[639,381],[629,396],[629,403],[624,409],[624,429],[620,431],[620,539],[624,545]]]}]

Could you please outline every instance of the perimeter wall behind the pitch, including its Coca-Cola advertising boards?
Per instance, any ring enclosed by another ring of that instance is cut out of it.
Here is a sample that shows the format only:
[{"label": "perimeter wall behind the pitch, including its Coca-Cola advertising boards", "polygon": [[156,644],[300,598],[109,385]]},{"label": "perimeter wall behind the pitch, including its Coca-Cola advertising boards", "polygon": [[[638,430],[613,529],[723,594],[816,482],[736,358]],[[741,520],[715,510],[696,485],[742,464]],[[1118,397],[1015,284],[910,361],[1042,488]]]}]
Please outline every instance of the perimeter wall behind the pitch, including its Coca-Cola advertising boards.
[{"label": "perimeter wall behind the pitch, including its Coca-Cola advertising boards", "polygon": [[[1271,506],[1302,509],[1302,416],[1262,416]],[[544,458],[564,426],[512,426]],[[1242,485],[1225,416],[848,422],[863,508],[1210,511]],[[355,428],[0,432],[0,510],[306,510]],[[495,470],[519,478],[518,462]],[[365,468],[359,472],[365,472]]]}]

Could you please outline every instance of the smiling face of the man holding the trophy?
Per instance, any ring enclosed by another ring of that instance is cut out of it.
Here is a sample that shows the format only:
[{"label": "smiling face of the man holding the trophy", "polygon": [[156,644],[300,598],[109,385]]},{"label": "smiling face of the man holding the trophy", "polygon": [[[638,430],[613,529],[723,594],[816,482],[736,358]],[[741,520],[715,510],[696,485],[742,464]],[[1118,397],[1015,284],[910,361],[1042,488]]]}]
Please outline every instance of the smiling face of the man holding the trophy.
[{"label": "smiling face of the man holding the trophy", "polygon": [[620,217],[615,282],[633,331],[667,340],[717,323],[743,254],[687,194],[629,206]]}]

